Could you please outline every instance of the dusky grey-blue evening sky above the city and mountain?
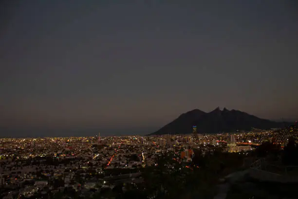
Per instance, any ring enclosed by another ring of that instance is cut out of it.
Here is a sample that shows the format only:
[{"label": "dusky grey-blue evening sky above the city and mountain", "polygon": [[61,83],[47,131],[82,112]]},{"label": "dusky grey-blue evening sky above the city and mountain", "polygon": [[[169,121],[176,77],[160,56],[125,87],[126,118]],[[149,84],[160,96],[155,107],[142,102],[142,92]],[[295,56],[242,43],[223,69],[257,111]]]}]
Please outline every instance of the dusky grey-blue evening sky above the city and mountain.
[{"label": "dusky grey-blue evening sky above the city and mountain", "polygon": [[4,0],[0,136],[147,134],[192,109],[298,118],[295,0]]}]

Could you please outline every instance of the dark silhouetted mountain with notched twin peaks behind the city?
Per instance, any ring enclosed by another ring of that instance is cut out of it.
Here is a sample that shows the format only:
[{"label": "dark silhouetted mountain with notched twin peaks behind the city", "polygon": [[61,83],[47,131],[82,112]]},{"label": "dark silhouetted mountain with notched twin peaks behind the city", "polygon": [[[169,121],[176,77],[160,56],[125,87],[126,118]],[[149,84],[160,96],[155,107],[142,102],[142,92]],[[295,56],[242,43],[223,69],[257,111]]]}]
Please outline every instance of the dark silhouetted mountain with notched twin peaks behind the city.
[{"label": "dark silhouetted mountain with notched twin peaks behind the city", "polygon": [[[238,110],[228,110],[219,107],[209,113],[194,109],[180,115],[177,119],[168,123],[158,131],[150,135],[162,134],[191,134],[192,126],[197,126],[198,133],[219,133],[249,131],[251,128],[270,129],[282,128],[284,122],[275,122],[268,119],[261,119]],[[287,124],[288,125],[288,124]]]}]

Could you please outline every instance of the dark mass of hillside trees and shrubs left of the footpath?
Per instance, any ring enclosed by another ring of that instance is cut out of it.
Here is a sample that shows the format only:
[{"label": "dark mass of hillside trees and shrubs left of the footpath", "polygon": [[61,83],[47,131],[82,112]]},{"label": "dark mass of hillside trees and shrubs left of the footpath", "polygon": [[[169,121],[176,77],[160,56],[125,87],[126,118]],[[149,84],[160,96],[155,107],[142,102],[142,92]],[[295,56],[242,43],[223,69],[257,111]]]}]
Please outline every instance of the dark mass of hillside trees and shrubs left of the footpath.
[{"label": "dark mass of hillside trees and shrubs left of the footpath", "polygon": [[109,198],[212,199],[217,191],[218,180],[238,170],[244,155],[218,153],[214,156],[200,156],[199,161],[194,159],[189,168],[180,164],[176,158],[174,153],[158,156],[157,166],[142,169],[144,183],[126,184],[127,191],[110,192]]}]

